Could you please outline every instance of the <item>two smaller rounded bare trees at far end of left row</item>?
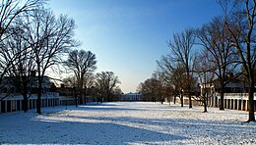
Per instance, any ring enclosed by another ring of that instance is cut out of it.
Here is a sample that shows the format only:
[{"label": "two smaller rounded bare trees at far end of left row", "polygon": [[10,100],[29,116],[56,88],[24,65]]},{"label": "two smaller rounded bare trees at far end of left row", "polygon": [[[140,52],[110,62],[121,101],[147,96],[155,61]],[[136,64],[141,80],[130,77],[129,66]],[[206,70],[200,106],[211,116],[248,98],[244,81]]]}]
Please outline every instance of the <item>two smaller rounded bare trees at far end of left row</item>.
[{"label": "two smaller rounded bare trees at far end of left row", "polygon": [[[96,55],[91,51],[72,50],[69,52],[68,59],[63,63],[69,73],[64,78],[63,84],[72,88],[76,106],[78,98],[80,103],[86,104],[87,96],[97,96],[97,101],[112,101],[113,95],[120,95],[121,89],[117,86],[120,83],[118,76],[113,72],[96,73]],[[84,98],[84,100],[83,100]]]}]

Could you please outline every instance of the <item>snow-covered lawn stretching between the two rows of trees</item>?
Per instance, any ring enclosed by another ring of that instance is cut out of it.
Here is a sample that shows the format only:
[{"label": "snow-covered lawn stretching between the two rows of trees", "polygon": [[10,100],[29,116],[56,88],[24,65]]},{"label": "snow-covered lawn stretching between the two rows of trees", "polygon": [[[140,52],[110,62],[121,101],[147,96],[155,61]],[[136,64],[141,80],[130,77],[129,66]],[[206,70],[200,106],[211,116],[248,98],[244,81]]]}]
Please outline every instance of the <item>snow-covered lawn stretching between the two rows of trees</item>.
[{"label": "snow-covered lawn stretching between the two rows of trees", "polygon": [[0,115],[0,144],[256,144],[243,111],[146,102],[43,108]]}]

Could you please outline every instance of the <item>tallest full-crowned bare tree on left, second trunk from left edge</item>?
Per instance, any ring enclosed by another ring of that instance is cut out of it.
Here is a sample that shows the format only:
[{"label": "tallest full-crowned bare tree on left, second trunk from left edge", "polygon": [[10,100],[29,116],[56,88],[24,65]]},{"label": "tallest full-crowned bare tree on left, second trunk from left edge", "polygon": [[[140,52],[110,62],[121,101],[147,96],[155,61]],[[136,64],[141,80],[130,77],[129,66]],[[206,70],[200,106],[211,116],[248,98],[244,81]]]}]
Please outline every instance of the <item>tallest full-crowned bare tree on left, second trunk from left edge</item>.
[{"label": "tallest full-crowned bare tree on left, second trunk from left edge", "polygon": [[62,62],[68,49],[75,47],[75,22],[67,16],[55,19],[52,12],[36,11],[25,20],[26,41],[30,44],[37,72],[36,113],[41,114],[41,89],[43,76],[50,67]]}]

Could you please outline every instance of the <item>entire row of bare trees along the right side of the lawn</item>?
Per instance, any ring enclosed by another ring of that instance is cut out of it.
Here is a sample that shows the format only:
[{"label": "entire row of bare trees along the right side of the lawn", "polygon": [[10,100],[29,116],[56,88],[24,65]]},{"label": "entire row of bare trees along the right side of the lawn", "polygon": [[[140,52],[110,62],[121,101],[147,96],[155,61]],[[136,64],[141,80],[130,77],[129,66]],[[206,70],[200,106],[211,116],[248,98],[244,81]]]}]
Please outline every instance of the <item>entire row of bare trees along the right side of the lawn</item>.
[{"label": "entire row of bare trees along the right side of the lawn", "polygon": [[[198,93],[198,84],[206,88],[207,83],[218,80],[221,93],[220,110],[224,110],[224,87],[235,77],[244,77],[248,85],[248,121],[255,121],[254,100],[256,74],[255,0],[219,0],[224,16],[214,18],[199,28],[188,28],[173,34],[168,42],[170,54],[162,56],[158,63],[157,77],[140,84],[143,94],[168,98],[169,95],[189,98],[192,96],[204,104],[207,112],[207,91]],[[156,79],[156,80],[155,80]],[[150,81],[158,82],[154,87]],[[151,91],[147,90],[150,89]],[[166,91],[167,90],[167,91]],[[181,102],[183,106],[183,102]]]}]

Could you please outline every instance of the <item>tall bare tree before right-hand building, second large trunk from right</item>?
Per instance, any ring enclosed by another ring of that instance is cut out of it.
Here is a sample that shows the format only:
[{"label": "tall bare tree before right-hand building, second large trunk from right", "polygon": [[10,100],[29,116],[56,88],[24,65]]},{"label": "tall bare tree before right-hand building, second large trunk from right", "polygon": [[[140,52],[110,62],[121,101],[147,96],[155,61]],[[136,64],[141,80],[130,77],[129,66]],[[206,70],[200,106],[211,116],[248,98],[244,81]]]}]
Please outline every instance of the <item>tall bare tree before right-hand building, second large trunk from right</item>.
[{"label": "tall bare tree before right-hand building, second large trunk from right", "polygon": [[219,17],[213,19],[210,24],[204,24],[197,30],[196,34],[199,44],[208,51],[208,62],[212,65],[209,71],[215,73],[220,83],[221,100],[220,110],[224,110],[224,87],[232,79],[227,73],[234,73],[237,57],[234,47],[230,43],[230,35],[224,25],[224,19]]}]

